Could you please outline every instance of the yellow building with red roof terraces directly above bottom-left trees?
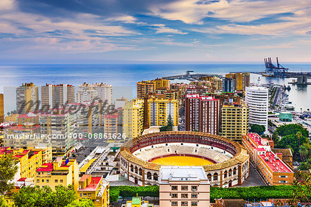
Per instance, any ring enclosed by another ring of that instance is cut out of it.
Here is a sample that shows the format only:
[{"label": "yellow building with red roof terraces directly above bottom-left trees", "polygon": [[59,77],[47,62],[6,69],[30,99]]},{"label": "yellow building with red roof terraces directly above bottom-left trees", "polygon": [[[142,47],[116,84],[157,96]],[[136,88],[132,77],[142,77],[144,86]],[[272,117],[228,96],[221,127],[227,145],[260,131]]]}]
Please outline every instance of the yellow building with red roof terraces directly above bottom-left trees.
[{"label": "yellow building with red roof terraces directly above bottom-left trees", "polygon": [[55,186],[73,185],[75,191],[79,188],[79,166],[75,159],[64,161],[62,157],[57,157],[55,161],[43,164],[37,168],[35,177],[37,186],[50,186],[55,190]]}]

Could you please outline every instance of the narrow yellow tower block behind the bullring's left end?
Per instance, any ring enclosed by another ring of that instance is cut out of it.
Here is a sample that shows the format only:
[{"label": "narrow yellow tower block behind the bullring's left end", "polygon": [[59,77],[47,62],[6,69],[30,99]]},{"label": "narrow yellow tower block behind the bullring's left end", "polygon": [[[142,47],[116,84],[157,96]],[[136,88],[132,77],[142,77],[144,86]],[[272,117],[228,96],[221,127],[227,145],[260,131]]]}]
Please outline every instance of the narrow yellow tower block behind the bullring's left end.
[{"label": "narrow yellow tower block behind the bullring's left end", "polygon": [[122,132],[129,139],[142,134],[144,130],[144,100],[133,99],[126,103],[122,112]]}]

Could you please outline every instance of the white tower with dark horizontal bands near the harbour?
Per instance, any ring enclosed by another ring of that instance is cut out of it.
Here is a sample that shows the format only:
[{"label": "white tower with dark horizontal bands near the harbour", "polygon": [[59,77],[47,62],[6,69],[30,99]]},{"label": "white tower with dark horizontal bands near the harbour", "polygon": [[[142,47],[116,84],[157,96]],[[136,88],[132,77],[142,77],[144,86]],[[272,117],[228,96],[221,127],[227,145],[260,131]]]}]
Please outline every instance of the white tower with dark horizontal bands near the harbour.
[{"label": "white tower with dark horizontal bands near the harbour", "polygon": [[249,124],[265,126],[267,132],[269,90],[265,87],[246,87],[245,103],[249,108]]}]

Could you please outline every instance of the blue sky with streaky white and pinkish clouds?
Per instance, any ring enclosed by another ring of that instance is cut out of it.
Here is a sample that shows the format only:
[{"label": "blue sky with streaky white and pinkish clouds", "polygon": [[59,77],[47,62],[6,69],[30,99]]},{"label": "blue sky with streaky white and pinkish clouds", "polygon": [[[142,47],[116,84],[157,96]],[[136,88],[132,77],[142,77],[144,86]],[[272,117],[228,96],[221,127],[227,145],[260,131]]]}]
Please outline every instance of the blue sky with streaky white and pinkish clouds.
[{"label": "blue sky with streaky white and pinkish clouds", "polygon": [[0,64],[311,62],[310,48],[310,0],[0,0]]}]

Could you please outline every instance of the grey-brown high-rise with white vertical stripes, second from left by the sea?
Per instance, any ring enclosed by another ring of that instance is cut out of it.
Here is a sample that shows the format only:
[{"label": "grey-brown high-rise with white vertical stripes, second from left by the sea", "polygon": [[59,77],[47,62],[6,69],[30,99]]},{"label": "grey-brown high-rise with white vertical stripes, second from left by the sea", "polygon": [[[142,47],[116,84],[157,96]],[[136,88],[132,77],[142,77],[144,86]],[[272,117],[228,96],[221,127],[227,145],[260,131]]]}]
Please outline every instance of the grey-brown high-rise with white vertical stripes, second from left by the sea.
[{"label": "grey-brown high-rise with white vertical stripes, second from left by the sea", "polygon": [[41,86],[42,106],[63,106],[65,103],[75,102],[75,86],[68,84],[53,85],[46,83]]}]

